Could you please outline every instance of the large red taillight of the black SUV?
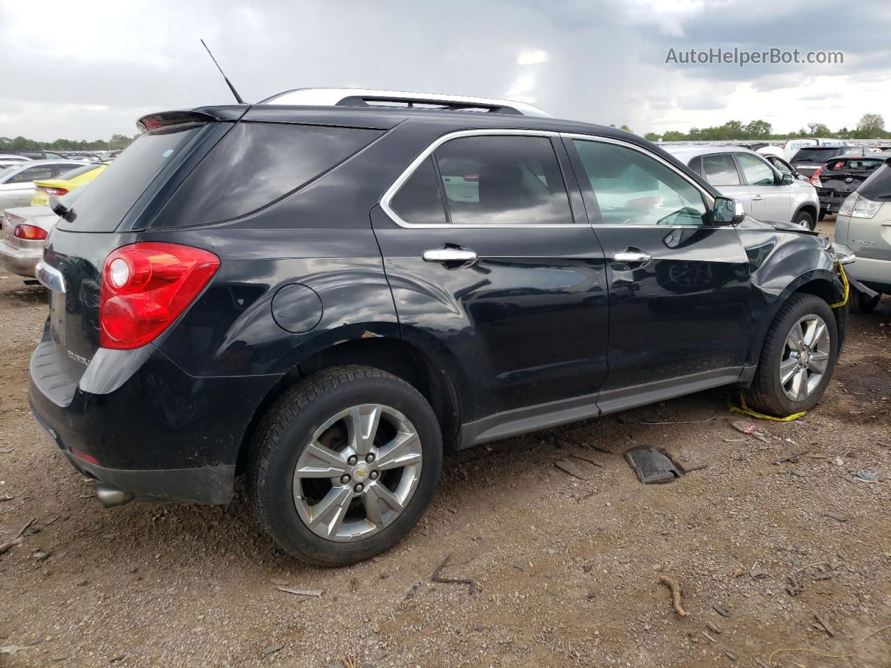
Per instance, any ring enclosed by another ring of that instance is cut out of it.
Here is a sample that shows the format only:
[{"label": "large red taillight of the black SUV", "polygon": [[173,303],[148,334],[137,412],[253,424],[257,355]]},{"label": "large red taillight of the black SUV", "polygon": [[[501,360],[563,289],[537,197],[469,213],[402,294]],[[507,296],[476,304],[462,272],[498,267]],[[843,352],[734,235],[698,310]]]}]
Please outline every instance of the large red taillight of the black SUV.
[{"label": "large red taillight of the black SUV", "polygon": [[99,292],[100,345],[138,348],[166,330],[217,273],[208,250],[143,242],[105,259]]}]

